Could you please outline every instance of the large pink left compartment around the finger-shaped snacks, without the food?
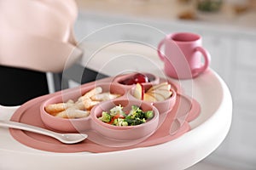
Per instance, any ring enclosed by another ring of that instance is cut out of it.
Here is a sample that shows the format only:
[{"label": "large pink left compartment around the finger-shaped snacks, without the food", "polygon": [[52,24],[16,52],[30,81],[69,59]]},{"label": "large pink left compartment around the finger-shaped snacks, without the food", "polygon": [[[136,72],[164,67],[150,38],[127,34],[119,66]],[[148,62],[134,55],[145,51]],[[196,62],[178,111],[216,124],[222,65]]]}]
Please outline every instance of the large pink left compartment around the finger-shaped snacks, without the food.
[{"label": "large pink left compartment around the finger-shaped snacks, without the food", "polygon": [[120,94],[120,97],[126,94],[125,88],[122,88],[122,86],[118,83],[96,83],[95,85],[82,88],[74,88],[73,90],[69,90],[67,92],[63,91],[61,94],[57,94],[52,98],[46,99],[43,104],[40,105],[40,116],[44,122],[44,125],[52,130],[65,133],[83,132],[84,130],[90,129],[90,116],[77,119],[61,118],[50,115],[47,111],[44,110],[44,108],[49,104],[67,102],[68,99],[73,99],[76,101],[82,94],[85,94],[86,92],[96,87],[102,87],[102,92]]}]

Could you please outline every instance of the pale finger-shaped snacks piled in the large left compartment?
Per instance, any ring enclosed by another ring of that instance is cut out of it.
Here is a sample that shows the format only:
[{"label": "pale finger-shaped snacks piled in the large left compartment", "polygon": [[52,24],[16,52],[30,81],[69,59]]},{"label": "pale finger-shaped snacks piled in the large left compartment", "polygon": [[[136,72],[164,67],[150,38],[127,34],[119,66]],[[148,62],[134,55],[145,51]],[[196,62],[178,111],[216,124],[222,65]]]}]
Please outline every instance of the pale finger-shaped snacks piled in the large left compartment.
[{"label": "pale finger-shaped snacks piled in the large left compartment", "polygon": [[69,99],[67,102],[46,105],[44,110],[52,116],[62,118],[81,118],[90,115],[93,106],[108,99],[118,98],[119,94],[111,94],[110,92],[102,92],[101,87],[91,89],[77,101]]}]

